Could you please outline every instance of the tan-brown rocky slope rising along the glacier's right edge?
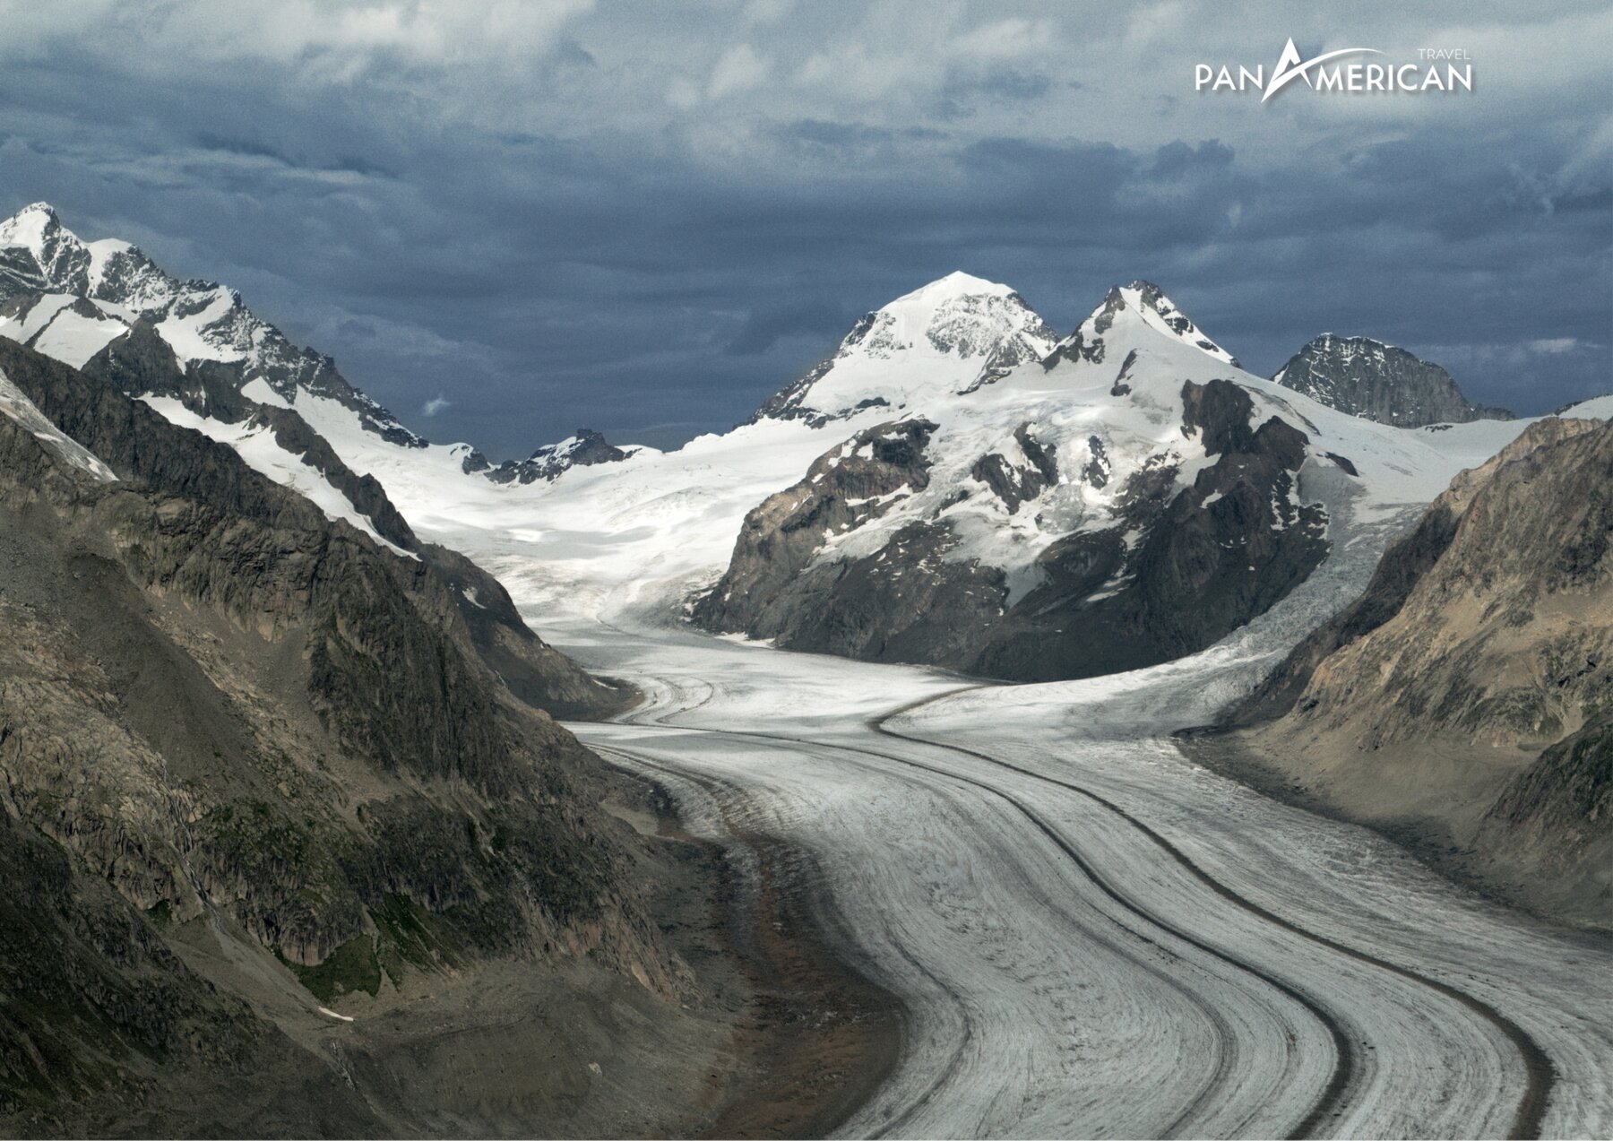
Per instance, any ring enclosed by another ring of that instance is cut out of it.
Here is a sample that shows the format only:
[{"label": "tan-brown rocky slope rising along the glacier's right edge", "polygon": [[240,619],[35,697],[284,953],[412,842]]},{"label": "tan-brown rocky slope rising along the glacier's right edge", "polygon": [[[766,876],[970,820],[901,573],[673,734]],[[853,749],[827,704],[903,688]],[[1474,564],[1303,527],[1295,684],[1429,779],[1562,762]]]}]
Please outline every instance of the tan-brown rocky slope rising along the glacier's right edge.
[{"label": "tan-brown rocky slope rising along the glacier's right edge", "polygon": [[1531,426],[1389,549],[1236,739],[1348,815],[1613,926],[1610,547],[1613,426]]}]

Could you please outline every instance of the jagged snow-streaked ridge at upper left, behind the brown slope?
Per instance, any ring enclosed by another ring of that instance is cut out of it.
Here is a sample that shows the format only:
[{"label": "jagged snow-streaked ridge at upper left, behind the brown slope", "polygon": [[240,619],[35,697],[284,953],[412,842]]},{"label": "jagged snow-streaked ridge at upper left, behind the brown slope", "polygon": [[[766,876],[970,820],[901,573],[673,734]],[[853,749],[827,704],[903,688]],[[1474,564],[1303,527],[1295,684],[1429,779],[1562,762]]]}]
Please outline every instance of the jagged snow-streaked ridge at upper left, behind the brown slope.
[{"label": "jagged snow-streaked ridge at upper left, behind the brown slope", "polygon": [[[69,300],[65,294],[26,292],[39,287],[77,289],[85,297],[63,303]],[[406,439],[392,431],[390,413],[350,389],[329,358],[292,349],[242,308],[239,295],[229,294],[227,310],[215,315],[221,289],[179,282],[124,242],[84,244],[44,203],[0,224],[0,311],[15,310],[10,321],[0,321],[0,339],[34,345],[139,397],[166,420],[227,444],[260,473],[308,495],[329,518],[427,565],[450,584],[479,649],[524,700],[563,717],[619,708],[627,700],[623,691],[602,686],[545,646],[492,576],[421,541],[381,481],[355,471],[303,412],[321,402],[347,408],[356,416],[356,433],[402,455],[421,455],[429,445],[402,426]],[[81,350],[98,347],[63,357],[63,342],[47,334],[66,316],[90,320],[81,315],[84,308],[95,308],[94,332],[105,339],[81,339]],[[202,355],[184,358],[182,350]]]}]

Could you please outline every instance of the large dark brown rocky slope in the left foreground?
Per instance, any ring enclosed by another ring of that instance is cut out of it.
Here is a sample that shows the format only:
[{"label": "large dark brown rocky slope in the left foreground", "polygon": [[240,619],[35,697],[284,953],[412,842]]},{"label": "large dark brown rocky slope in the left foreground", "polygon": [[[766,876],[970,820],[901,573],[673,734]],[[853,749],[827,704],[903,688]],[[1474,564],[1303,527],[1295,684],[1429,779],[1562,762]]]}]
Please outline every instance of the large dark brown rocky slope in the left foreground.
[{"label": "large dark brown rocky slope in the left foreground", "polygon": [[[6,1120],[218,1064],[315,1083],[290,1131],[374,1130],[215,991],[242,970],[327,1004],[510,957],[679,986],[595,762],[484,663],[455,594],[497,615],[497,584],[32,350],[0,374],[0,960],[32,996],[0,1005]],[[169,939],[234,965],[210,984]]]}]

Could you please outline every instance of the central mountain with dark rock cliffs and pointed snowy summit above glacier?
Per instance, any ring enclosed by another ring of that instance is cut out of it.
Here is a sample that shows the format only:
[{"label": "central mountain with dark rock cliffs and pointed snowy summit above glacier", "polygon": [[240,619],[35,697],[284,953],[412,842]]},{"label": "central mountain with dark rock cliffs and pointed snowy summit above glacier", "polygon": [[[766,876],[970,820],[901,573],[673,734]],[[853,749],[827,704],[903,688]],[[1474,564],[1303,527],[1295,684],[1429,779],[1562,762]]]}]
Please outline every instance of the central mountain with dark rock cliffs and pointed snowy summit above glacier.
[{"label": "central mountain with dark rock cliffs and pointed snowy summit above glacier", "polygon": [[1332,512],[1432,458],[1242,373],[1150,282],[989,387],[882,413],[747,516],[697,625],[1016,681],[1150,665],[1268,610]]}]

